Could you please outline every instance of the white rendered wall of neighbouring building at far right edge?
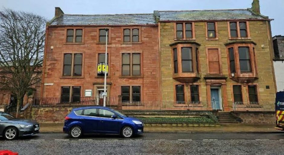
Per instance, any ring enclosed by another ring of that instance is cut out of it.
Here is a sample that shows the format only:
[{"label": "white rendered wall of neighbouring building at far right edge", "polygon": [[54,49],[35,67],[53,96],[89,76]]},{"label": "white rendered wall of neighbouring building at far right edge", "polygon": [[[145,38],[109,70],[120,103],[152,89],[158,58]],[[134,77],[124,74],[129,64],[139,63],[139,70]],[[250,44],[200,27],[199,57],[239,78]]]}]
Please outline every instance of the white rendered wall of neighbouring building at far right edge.
[{"label": "white rendered wall of neighbouring building at far right edge", "polygon": [[273,61],[277,92],[284,90],[284,60]]}]

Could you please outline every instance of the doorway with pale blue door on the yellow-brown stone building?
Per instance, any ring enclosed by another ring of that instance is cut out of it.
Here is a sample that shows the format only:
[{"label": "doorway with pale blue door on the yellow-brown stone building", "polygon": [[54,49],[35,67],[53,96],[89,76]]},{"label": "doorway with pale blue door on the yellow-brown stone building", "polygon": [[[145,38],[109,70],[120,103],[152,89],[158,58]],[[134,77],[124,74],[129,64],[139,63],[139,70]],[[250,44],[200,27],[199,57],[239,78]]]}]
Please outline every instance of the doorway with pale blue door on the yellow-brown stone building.
[{"label": "doorway with pale blue door on the yellow-brown stone building", "polygon": [[221,87],[211,87],[211,106],[213,110],[222,110]]}]

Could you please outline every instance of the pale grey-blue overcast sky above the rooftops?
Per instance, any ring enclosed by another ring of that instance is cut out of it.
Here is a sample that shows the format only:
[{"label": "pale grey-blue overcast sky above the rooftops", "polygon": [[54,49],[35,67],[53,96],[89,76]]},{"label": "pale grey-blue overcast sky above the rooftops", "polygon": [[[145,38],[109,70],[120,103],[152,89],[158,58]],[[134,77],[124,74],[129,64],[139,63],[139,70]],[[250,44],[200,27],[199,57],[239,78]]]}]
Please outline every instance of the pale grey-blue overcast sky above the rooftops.
[{"label": "pale grey-blue overcast sky above the rooftops", "polygon": [[[205,10],[250,8],[253,0],[0,0],[1,9],[29,11],[48,19],[54,7],[65,14],[153,13],[154,10]],[[213,3],[214,2],[214,3]],[[284,0],[260,0],[260,12],[269,18],[272,35],[284,35]]]}]

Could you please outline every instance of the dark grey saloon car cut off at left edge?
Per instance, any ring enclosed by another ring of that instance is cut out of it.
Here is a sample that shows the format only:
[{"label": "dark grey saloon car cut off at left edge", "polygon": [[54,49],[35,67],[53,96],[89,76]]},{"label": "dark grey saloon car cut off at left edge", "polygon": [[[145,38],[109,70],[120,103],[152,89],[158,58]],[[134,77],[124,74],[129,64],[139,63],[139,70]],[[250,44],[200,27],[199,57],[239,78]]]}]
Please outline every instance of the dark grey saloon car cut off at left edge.
[{"label": "dark grey saloon car cut off at left edge", "polygon": [[0,112],[0,137],[14,140],[19,136],[29,136],[39,133],[39,124],[28,119],[17,119],[14,116]]}]

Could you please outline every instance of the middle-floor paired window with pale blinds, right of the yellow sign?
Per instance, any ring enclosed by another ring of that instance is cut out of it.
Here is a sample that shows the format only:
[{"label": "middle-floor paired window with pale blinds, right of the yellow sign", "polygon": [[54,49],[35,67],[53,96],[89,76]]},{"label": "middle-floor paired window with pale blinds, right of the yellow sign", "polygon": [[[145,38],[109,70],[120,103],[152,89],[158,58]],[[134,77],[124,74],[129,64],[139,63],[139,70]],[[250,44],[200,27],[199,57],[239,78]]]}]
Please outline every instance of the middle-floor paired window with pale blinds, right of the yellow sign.
[{"label": "middle-floor paired window with pale blinds, right of the yellow sign", "polygon": [[140,53],[122,54],[122,76],[140,76],[140,70]]}]

